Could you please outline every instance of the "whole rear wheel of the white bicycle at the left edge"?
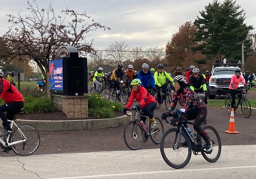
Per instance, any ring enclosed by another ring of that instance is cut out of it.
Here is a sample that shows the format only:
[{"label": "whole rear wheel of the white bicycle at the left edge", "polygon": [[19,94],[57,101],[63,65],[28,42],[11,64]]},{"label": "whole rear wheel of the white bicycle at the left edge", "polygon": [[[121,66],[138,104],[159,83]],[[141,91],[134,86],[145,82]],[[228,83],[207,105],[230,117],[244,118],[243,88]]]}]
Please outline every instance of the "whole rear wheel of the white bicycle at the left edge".
[{"label": "whole rear wheel of the white bicycle at the left edge", "polygon": [[35,128],[29,125],[21,125],[12,132],[11,141],[17,142],[27,138],[25,142],[12,145],[14,153],[20,156],[28,156],[36,152],[40,144],[40,135]]}]

